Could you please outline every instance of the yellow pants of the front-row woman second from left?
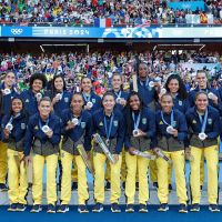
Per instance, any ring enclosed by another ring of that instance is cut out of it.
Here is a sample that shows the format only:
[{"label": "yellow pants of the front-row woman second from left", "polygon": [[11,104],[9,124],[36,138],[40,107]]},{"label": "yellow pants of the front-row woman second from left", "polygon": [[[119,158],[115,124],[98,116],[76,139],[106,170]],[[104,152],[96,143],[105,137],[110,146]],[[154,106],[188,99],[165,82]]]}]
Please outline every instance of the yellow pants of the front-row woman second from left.
[{"label": "yellow pants of the front-row woman second from left", "polygon": [[42,175],[44,162],[47,163],[47,202],[48,204],[54,205],[57,202],[56,173],[58,165],[58,154],[51,154],[47,157],[33,154],[33,204],[42,203]]}]

